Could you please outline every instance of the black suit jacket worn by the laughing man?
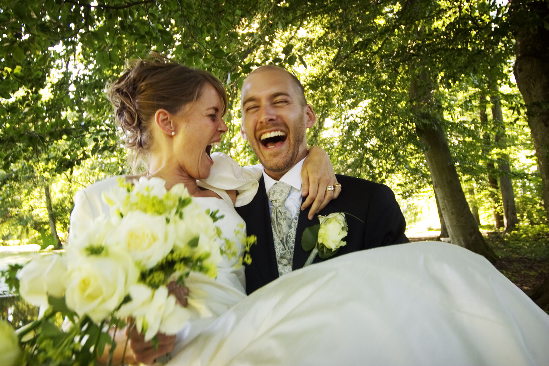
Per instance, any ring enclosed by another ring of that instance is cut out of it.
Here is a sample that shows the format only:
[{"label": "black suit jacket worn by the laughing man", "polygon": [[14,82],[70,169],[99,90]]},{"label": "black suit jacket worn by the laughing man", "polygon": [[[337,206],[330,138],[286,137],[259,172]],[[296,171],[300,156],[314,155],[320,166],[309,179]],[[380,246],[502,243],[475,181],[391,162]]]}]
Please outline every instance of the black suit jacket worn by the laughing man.
[{"label": "black suit jacket worn by the laughing man", "polygon": [[[393,191],[378,184],[355,177],[337,175],[341,193],[329,202],[318,215],[332,212],[346,212],[348,234],[347,244],[340,247],[337,255],[377,246],[408,243],[404,230],[406,223]],[[263,177],[254,199],[237,211],[246,222],[248,235],[256,235],[257,243],[251,247],[251,264],[246,266],[246,289],[248,294],[278,278],[275,244],[271,229],[271,217]],[[318,223],[318,217],[307,218],[309,208],[299,213],[295,234],[294,261],[292,269],[303,267],[310,252],[301,247],[301,234],[305,228]],[[355,216],[355,217],[353,217]],[[323,261],[316,257],[314,263]]]}]

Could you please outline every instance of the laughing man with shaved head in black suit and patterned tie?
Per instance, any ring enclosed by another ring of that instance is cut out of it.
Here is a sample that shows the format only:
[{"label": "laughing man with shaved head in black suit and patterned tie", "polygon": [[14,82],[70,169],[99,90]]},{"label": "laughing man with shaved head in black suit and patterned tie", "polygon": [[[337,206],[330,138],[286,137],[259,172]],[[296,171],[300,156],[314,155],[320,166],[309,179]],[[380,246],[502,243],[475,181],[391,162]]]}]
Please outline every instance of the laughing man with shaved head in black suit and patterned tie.
[{"label": "laughing man with shaved head in black suit and patterned tie", "polygon": [[[262,66],[251,72],[240,97],[243,136],[264,166],[254,199],[237,207],[247,224],[248,235],[257,236],[257,244],[250,250],[251,264],[245,269],[250,294],[303,267],[309,257],[309,252],[301,247],[301,234],[317,224],[318,218],[309,220],[309,209],[299,210],[300,172],[307,156],[306,129],[315,124],[316,115],[306,103],[299,80],[276,66]],[[337,175],[337,180],[341,184],[339,198],[318,213],[345,213],[347,244],[337,255],[408,242],[404,216],[389,187],[341,175]],[[320,261],[317,256],[314,262]]]}]

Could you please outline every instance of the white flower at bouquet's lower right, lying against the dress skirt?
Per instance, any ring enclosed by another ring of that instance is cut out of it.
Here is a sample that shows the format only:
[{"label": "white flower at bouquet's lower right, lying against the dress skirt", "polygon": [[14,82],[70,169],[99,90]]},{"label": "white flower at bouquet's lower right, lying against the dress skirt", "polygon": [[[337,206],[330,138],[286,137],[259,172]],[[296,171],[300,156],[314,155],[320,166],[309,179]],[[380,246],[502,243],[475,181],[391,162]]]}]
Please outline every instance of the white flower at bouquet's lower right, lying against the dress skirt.
[{"label": "white flower at bouquet's lower right, lying against the dress skirt", "polygon": [[153,290],[144,284],[130,288],[132,300],[116,312],[117,316],[133,317],[139,333],[145,334],[145,341],[152,339],[159,331],[176,334],[188,322],[191,312],[176,303],[173,295],[168,295],[166,286]]}]

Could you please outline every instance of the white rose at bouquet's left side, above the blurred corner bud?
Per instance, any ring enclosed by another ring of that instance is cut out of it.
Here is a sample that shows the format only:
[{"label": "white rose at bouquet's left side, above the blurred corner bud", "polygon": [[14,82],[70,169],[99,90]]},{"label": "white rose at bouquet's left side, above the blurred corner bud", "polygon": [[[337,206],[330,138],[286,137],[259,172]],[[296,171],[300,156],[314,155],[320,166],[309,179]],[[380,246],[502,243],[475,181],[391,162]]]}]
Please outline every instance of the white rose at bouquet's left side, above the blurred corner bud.
[{"label": "white rose at bouquet's left side, above the blurred corner bud", "polygon": [[21,269],[19,293],[26,302],[47,306],[48,295],[62,297],[66,289],[66,259],[58,254],[34,258]]}]

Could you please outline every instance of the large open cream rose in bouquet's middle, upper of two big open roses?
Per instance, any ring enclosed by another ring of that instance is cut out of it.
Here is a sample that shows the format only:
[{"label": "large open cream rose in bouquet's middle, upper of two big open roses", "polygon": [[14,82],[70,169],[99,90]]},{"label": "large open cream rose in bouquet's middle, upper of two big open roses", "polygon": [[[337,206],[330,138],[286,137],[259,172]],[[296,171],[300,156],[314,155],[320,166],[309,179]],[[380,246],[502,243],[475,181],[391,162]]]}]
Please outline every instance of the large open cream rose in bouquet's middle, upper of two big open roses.
[{"label": "large open cream rose in bouquet's middle, upper of two big open roses", "polygon": [[128,212],[120,221],[109,245],[121,246],[145,268],[152,268],[173,248],[176,230],[164,216],[142,211]]}]

